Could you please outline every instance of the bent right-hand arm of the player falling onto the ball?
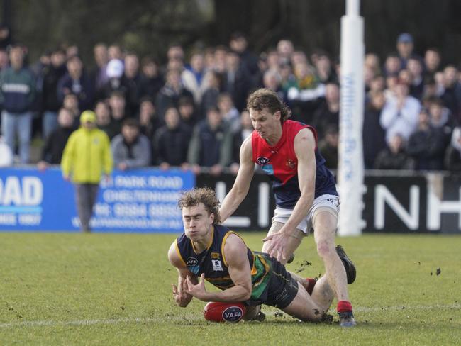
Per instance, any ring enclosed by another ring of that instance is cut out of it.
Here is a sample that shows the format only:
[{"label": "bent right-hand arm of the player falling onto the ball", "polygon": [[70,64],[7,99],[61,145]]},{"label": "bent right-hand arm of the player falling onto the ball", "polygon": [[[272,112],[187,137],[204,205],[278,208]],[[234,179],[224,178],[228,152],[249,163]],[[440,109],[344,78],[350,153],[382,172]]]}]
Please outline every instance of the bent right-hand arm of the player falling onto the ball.
[{"label": "bent right-hand arm of the player falling onto the ball", "polygon": [[250,298],[252,291],[251,272],[245,243],[238,235],[230,234],[224,245],[223,255],[227,260],[230,279],[235,286],[224,291],[206,291],[205,275],[202,274],[199,284],[196,285],[187,277],[187,293],[201,301],[221,301],[226,303],[247,301]]}]

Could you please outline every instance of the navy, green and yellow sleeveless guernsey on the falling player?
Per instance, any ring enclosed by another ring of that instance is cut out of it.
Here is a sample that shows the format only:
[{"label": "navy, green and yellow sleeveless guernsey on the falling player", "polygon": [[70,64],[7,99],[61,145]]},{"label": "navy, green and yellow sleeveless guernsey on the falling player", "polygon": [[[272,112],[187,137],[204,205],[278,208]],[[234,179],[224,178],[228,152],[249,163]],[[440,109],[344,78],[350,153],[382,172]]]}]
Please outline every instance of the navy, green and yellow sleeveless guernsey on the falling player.
[{"label": "navy, green and yellow sleeveless guernsey on the falling player", "polygon": [[[228,264],[224,256],[224,244],[230,234],[240,235],[229,230],[223,225],[215,225],[209,246],[201,253],[197,253],[194,244],[183,233],[176,240],[176,250],[179,258],[194,275],[199,277],[205,273],[206,281],[218,287],[228,289],[234,286],[228,272]],[[242,240],[243,241],[243,240]],[[270,281],[272,261],[266,254],[254,252],[247,247],[248,261],[251,269],[252,293],[247,303],[260,302],[267,292]]]}]

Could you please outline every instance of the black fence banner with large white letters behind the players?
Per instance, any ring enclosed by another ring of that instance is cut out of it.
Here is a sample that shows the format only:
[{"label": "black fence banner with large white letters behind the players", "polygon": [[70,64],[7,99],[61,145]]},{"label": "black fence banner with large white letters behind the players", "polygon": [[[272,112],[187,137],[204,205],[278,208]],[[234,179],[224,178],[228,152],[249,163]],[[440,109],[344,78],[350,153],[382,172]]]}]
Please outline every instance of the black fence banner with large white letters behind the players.
[{"label": "black fence banner with large white letters behind the players", "polygon": [[[233,174],[200,174],[196,184],[216,189],[222,199],[234,180]],[[365,174],[365,186],[364,233],[461,234],[461,177],[447,173],[369,171]],[[347,203],[347,196],[342,199],[342,203]],[[235,230],[267,230],[273,210],[269,179],[256,173],[248,196],[226,225]]]}]

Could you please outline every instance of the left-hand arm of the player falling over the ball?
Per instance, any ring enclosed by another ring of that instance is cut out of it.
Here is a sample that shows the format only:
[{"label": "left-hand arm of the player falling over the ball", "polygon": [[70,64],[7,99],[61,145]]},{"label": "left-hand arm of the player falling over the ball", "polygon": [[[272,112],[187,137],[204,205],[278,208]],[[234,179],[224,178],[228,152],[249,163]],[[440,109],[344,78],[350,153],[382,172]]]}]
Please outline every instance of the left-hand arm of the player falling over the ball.
[{"label": "left-hand arm of the player falling over the ball", "polygon": [[186,277],[189,276],[195,283],[197,283],[198,280],[194,274],[187,269],[182,259],[179,258],[176,250],[176,240],[170,246],[170,250],[168,250],[168,259],[178,271],[178,285],[172,284],[174,301],[176,301],[178,306],[185,308],[192,300],[192,296],[187,293]]}]

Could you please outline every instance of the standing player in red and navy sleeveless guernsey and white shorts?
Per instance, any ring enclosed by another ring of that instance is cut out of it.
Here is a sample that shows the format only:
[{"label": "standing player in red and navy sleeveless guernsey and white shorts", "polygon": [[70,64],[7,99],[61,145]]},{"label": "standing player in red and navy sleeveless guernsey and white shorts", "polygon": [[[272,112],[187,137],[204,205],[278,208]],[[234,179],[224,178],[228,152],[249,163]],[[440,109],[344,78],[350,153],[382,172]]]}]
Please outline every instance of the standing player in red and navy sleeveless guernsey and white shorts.
[{"label": "standing player in red and navy sleeveless guernsey and white shorts", "polygon": [[288,106],[268,89],[252,93],[247,108],[255,130],[240,147],[240,169],[223,200],[221,218],[225,221],[245,199],[254,165],[260,165],[272,180],[277,204],[262,252],[286,263],[303,236],[315,230],[317,252],[338,299],[340,325],[354,326],[347,284],[354,281],[355,268],[348,268],[348,261],[340,257],[345,255],[342,248],[335,248],[339,198],[333,175],[317,150],[316,130],[288,120]]}]

